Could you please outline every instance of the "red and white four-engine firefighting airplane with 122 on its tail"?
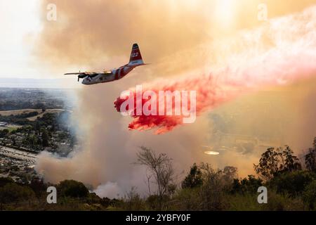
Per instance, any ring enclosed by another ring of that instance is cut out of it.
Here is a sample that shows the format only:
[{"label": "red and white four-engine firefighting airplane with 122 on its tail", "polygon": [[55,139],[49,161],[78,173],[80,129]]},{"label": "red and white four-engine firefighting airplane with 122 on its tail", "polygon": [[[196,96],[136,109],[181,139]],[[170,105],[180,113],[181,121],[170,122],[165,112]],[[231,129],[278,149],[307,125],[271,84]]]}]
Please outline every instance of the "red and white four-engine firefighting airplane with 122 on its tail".
[{"label": "red and white four-engine firefighting airplane with 122 on its tail", "polygon": [[105,70],[103,72],[69,72],[65,73],[65,75],[78,75],[78,82],[80,78],[84,79],[82,81],[82,84],[99,84],[105,82],[113,82],[114,80],[121,79],[129,72],[131,72],[134,68],[140,65],[147,64],[143,62],[138,44],[133,44],[129,63],[121,66],[120,68]]}]

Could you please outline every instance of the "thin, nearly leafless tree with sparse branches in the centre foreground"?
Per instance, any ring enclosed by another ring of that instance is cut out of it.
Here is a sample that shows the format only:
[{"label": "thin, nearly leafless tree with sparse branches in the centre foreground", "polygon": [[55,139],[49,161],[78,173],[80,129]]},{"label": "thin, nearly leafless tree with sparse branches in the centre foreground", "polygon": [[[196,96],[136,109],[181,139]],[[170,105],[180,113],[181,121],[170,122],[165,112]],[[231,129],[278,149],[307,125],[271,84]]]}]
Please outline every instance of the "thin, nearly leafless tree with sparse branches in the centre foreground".
[{"label": "thin, nearly leafless tree with sparse branches in the centre foreground", "polygon": [[159,197],[159,210],[162,210],[164,196],[170,194],[170,187],[173,186],[174,169],[171,164],[172,159],[165,153],[157,155],[153,150],[144,146],[140,147],[137,157],[136,164],[145,165],[149,169],[149,187],[150,179],[154,177],[154,184],[157,185],[157,195]]}]

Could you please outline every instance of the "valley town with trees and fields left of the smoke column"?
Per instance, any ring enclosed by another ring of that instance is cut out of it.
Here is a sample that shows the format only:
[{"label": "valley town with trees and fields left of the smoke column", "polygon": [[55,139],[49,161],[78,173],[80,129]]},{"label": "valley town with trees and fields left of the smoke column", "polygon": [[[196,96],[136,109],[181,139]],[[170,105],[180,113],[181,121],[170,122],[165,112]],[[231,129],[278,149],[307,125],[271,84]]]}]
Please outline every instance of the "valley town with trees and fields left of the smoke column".
[{"label": "valley town with trees and fields left of the smoke column", "polygon": [[65,156],[77,145],[69,124],[72,90],[34,88],[48,81],[27,80],[33,88],[0,87],[0,178],[23,184],[40,176],[34,165],[41,151]]}]

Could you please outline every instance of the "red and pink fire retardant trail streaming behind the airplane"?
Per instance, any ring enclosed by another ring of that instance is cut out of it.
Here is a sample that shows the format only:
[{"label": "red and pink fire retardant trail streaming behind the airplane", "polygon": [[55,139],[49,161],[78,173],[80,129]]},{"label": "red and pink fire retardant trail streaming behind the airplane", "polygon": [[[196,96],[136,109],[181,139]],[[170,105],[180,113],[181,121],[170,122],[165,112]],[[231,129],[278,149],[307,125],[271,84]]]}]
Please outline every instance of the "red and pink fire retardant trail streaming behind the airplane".
[{"label": "red and pink fire retardant trail streaming behind the airplane", "polygon": [[[316,76],[315,30],[316,7],[301,14],[270,20],[263,27],[239,34],[235,43],[230,44],[237,51],[230,52],[232,56],[226,59],[223,69],[209,75],[192,73],[181,79],[151,82],[143,85],[143,92],[154,91],[158,96],[159,91],[197,91],[196,109],[200,115],[247,91]],[[136,91],[131,91],[136,105]],[[117,98],[114,102],[117,111],[124,101]],[[143,100],[143,104],[145,102]],[[136,107],[134,109],[129,129],[156,128],[156,134],[162,134],[183,123],[179,116],[136,115]]]}]

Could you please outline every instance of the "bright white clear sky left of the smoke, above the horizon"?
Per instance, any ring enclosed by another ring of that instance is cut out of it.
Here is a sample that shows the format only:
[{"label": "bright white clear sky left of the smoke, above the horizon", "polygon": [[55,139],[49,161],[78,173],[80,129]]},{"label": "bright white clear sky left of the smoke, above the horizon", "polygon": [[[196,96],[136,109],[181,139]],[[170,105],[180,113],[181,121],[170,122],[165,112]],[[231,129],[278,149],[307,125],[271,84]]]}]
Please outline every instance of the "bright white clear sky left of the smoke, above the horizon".
[{"label": "bright white clear sky left of the smoke, above the horizon", "polygon": [[[40,0],[0,0],[0,86],[78,87],[72,78],[52,72],[34,57],[32,52],[38,47],[35,38],[42,30],[40,12]],[[30,78],[41,81],[25,82]]]}]

